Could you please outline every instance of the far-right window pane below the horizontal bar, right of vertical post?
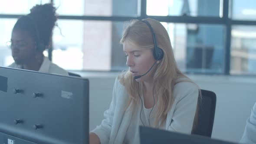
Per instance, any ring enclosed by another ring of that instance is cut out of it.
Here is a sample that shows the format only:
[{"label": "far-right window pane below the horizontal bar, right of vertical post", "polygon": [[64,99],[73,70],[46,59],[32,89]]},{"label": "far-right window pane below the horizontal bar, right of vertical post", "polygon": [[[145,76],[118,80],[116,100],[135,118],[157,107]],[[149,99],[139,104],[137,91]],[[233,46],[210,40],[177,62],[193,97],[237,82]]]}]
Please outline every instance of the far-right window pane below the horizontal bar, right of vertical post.
[{"label": "far-right window pane below the horizontal bar, right of vertical post", "polygon": [[233,26],[231,74],[256,74],[256,26]]}]

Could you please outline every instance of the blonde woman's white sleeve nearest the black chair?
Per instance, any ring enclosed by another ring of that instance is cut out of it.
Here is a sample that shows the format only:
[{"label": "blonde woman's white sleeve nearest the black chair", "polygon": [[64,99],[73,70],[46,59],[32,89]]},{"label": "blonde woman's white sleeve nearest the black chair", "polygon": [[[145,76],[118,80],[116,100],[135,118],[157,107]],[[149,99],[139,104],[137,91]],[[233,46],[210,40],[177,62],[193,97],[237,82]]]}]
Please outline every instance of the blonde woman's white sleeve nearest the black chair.
[{"label": "blonde woman's white sleeve nearest the black chair", "polygon": [[167,130],[191,134],[199,88],[192,82],[180,82],[174,86],[173,94],[175,107]]}]

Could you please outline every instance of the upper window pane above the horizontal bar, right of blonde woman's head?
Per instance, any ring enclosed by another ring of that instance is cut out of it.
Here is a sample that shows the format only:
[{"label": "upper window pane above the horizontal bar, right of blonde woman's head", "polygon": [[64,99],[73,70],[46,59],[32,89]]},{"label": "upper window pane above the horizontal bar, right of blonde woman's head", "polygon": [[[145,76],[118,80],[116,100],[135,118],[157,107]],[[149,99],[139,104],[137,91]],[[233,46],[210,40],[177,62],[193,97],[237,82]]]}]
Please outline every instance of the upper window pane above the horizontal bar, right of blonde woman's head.
[{"label": "upper window pane above the horizontal bar, right of blonde woman's head", "polygon": [[223,0],[147,0],[150,16],[222,17]]}]

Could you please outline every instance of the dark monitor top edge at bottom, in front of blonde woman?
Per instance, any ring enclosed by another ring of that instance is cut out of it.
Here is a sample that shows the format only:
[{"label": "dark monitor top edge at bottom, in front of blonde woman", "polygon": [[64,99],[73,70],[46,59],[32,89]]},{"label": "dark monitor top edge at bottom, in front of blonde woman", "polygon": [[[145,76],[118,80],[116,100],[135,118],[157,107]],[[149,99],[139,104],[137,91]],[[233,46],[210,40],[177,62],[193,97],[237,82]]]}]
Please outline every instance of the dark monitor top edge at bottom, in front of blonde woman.
[{"label": "dark monitor top edge at bottom, in front of blonde woman", "polygon": [[200,135],[181,134],[155,128],[140,127],[141,144],[235,144]]}]

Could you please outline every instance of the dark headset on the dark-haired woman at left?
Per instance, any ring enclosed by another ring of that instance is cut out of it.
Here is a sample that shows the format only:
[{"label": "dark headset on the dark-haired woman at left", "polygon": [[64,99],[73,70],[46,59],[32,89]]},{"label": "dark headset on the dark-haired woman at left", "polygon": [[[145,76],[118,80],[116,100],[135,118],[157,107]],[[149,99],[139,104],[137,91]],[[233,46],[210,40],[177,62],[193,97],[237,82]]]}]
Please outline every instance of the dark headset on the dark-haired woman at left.
[{"label": "dark headset on the dark-haired woman at left", "polygon": [[42,39],[40,38],[39,29],[36,25],[36,22],[35,22],[34,18],[29,16],[29,15],[25,15],[25,16],[28,17],[31,20],[31,22],[33,23],[34,29],[36,31],[36,50],[44,51],[45,50],[45,44],[43,43]]}]

